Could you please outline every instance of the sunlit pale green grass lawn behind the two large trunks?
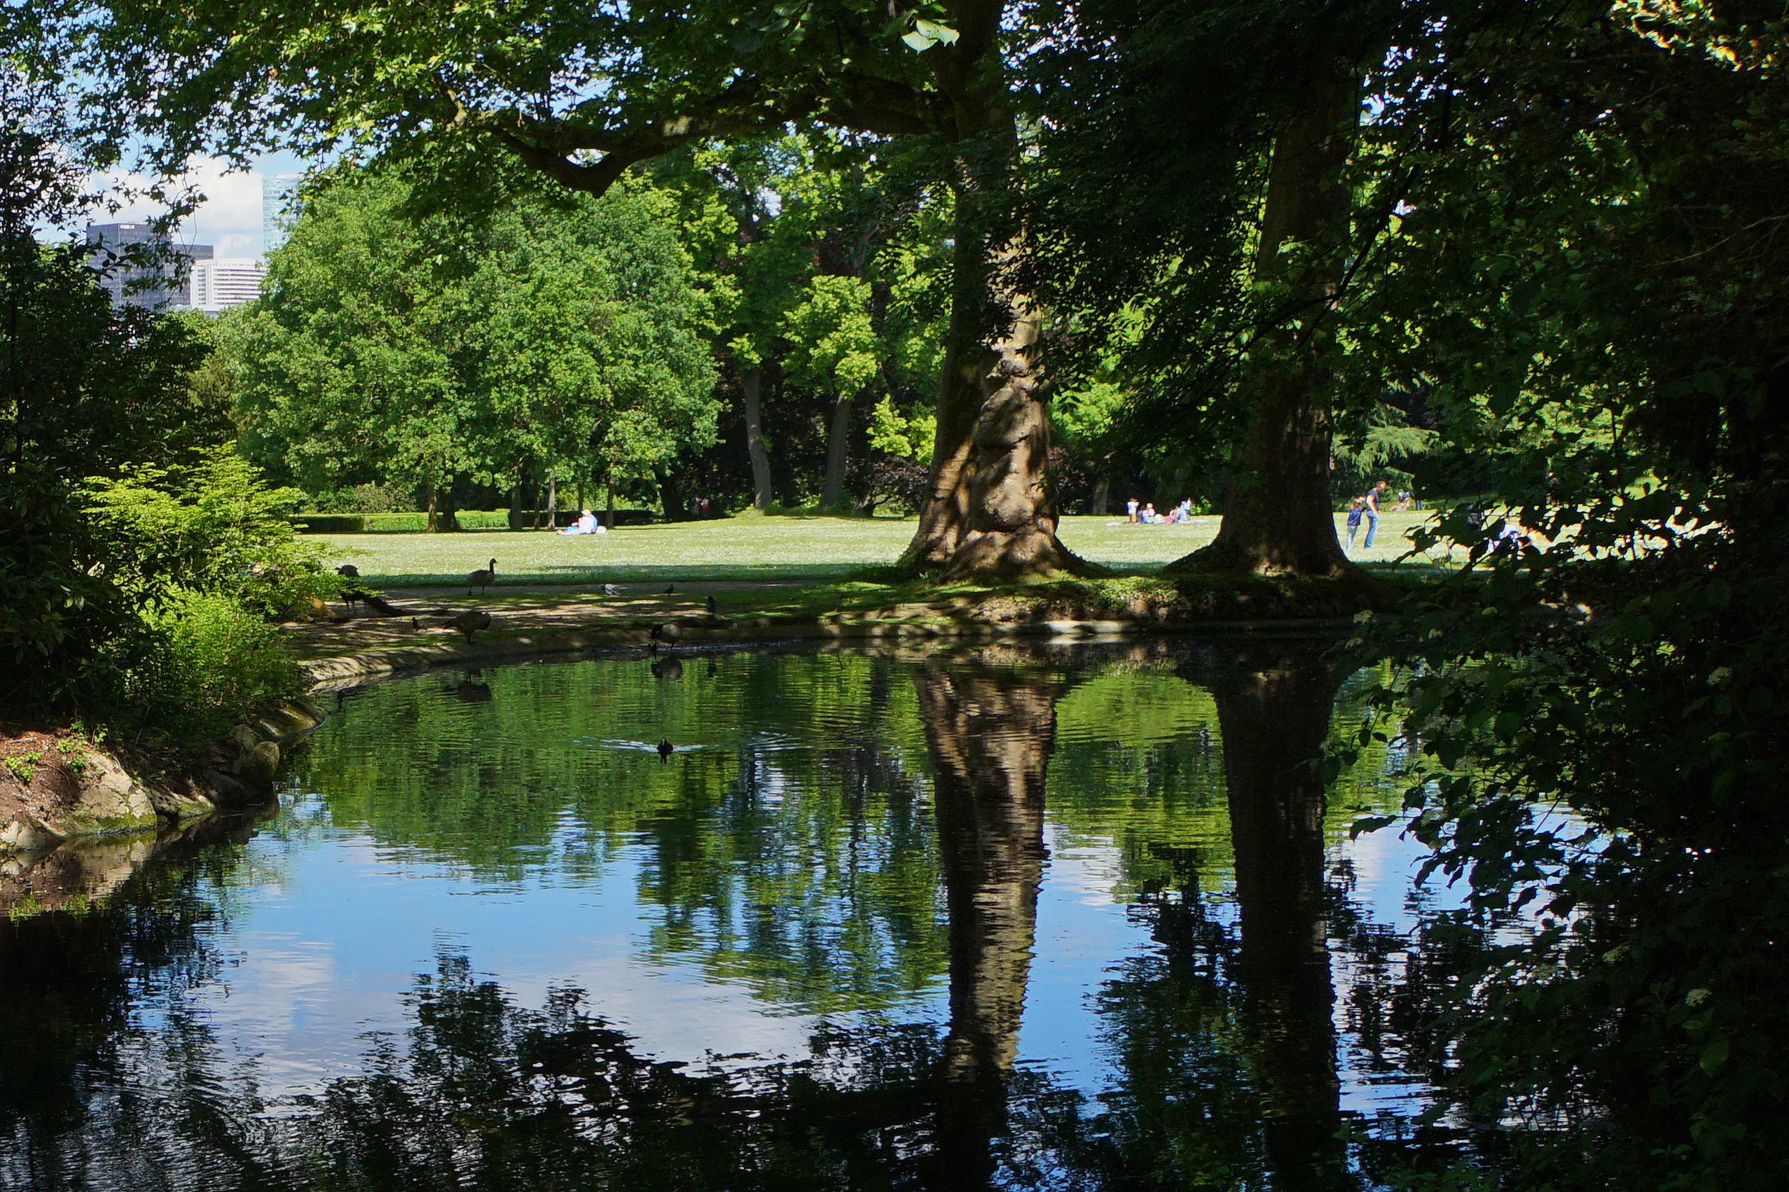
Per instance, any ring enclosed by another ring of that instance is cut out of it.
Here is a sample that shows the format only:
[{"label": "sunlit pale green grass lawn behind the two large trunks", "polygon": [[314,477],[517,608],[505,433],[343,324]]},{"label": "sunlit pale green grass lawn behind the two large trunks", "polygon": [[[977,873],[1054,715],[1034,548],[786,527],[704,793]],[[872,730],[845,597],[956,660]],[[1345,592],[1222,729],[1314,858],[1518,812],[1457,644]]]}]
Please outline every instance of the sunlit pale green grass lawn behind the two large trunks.
[{"label": "sunlit pale green grass lawn behind the two large trunks", "polygon": [[[1379,540],[1354,558],[1388,563],[1404,552],[1404,531],[1422,513],[1388,513]],[[1342,524],[1342,515],[1336,515]],[[1152,572],[1211,541],[1218,518],[1190,525],[1125,525],[1123,518],[1063,518],[1063,541],[1120,572]],[[547,531],[458,534],[317,534],[327,561],[354,563],[383,588],[451,586],[496,556],[499,586],[592,584],[674,579],[834,579],[900,558],[912,518],[744,515],[714,522],[623,527],[567,538]]]}]

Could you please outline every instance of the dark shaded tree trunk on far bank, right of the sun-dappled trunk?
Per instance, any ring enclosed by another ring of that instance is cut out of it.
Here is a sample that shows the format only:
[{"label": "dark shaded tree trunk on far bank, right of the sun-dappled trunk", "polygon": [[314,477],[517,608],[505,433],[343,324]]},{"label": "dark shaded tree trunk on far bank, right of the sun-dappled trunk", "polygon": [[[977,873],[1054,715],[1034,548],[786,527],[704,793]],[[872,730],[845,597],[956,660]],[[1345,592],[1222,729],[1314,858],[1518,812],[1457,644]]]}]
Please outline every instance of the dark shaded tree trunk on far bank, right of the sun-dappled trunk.
[{"label": "dark shaded tree trunk on far bank, right of the sun-dappled trunk", "polygon": [[1256,282],[1279,309],[1243,377],[1249,424],[1231,457],[1240,477],[1209,547],[1174,570],[1342,575],[1329,499],[1335,306],[1349,247],[1347,159],[1360,123],[1360,79],[1318,68],[1281,129],[1267,177]]}]

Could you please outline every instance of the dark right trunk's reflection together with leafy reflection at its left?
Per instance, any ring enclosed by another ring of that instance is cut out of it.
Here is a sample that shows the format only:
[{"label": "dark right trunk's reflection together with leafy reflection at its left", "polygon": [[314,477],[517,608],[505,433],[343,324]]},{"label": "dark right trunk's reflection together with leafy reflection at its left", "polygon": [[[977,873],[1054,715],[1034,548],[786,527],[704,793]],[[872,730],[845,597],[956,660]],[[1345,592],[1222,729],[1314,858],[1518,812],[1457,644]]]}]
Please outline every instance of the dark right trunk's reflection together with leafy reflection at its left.
[{"label": "dark right trunk's reflection together with leafy reflection at its left", "polygon": [[1311,765],[1336,684],[1310,651],[1195,654],[1183,674],[1217,699],[1236,922],[1200,890],[1206,858],[1165,851],[1179,890],[1143,899],[1157,949],[1100,988],[1113,1088],[1064,1160],[1097,1187],[1352,1187]]}]

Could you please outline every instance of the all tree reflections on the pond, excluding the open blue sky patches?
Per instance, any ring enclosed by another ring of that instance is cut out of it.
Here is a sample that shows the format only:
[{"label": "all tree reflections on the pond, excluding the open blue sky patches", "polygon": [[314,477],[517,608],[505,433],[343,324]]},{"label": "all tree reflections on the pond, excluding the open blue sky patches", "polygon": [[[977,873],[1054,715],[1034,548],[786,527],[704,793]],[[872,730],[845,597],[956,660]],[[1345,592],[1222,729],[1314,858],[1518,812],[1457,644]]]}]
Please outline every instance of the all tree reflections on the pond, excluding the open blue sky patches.
[{"label": "all tree reflections on the pond, excluding the open blue sky patches", "polygon": [[[1345,799],[1308,765],[1333,681],[1310,651],[1222,656],[685,652],[354,693],[290,777],[318,797],[267,840],[0,936],[5,1022],[70,1024],[0,1101],[0,1188],[1352,1188],[1326,949],[1370,924],[1326,865]],[[1091,1088],[1014,1062],[1057,947],[1047,822],[1057,849],[1118,845],[1147,929],[1088,986]],[[174,994],[229,985],[236,904],[342,835],[515,890],[628,865],[639,963],[823,1017],[805,1054],[664,1063],[603,988],[524,999],[447,947],[399,1033],[274,1097]]]}]

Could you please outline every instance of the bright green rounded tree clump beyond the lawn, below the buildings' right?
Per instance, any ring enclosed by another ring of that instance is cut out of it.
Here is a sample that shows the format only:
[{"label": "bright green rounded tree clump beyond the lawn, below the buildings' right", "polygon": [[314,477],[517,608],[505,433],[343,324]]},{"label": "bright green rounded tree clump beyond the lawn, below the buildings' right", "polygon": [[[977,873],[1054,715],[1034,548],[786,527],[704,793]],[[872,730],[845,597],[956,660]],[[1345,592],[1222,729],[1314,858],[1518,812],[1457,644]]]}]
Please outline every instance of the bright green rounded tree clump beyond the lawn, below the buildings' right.
[{"label": "bright green rounded tree clump beyond the lawn, below the buildings' right", "polygon": [[410,214],[390,170],[343,168],[231,340],[250,450],[302,483],[646,483],[714,438],[705,306],[662,197],[522,197]]}]

